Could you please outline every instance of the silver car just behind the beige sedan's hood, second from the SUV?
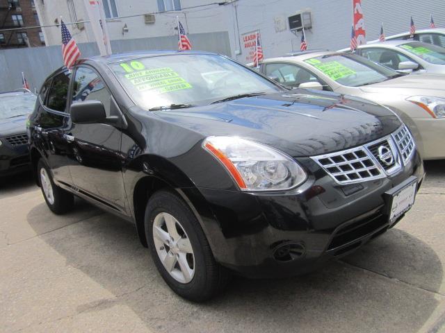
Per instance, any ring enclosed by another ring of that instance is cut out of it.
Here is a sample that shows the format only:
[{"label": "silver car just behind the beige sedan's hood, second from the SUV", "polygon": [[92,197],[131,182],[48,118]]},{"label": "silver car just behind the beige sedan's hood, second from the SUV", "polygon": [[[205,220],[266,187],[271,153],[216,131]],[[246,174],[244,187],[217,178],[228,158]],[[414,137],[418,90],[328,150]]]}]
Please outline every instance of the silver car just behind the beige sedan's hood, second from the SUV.
[{"label": "silver car just behind the beige sedan's hood, second from the SUV", "polygon": [[358,46],[355,54],[398,71],[445,74],[445,49],[432,44],[390,40]]}]

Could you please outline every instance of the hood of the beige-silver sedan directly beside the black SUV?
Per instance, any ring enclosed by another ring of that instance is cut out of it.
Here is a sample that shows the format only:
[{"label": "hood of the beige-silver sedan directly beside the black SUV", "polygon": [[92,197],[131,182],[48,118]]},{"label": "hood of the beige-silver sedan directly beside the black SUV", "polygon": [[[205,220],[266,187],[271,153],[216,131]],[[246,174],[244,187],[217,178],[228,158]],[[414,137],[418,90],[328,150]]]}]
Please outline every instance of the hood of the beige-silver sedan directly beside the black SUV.
[{"label": "hood of the beige-silver sedan directly beside the black SUV", "polygon": [[381,83],[360,87],[362,92],[398,94],[401,96],[445,96],[445,76],[439,74],[409,74]]}]

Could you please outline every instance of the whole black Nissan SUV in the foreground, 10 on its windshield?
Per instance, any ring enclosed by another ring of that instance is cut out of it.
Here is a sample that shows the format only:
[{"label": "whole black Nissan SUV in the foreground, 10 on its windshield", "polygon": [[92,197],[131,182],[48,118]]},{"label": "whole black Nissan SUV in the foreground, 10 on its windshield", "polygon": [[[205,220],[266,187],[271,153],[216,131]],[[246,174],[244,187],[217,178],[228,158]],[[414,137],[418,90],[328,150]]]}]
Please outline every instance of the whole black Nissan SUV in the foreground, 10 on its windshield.
[{"label": "whole black Nissan SUV in the foreground, 10 on its windshield", "polygon": [[49,208],[79,196],[133,221],[165,282],[196,301],[230,272],[293,275],[351,253],[400,221],[423,179],[387,108],[213,53],[83,59],[49,76],[29,129]]}]

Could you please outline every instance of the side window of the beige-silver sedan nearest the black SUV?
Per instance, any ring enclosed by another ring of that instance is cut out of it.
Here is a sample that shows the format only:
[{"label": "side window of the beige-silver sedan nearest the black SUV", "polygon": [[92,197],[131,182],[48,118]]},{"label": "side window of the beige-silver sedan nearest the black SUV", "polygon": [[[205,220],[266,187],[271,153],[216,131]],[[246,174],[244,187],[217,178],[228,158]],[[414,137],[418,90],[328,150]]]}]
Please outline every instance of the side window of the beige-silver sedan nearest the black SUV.
[{"label": "side window of the beige-silver sedan nearest the black SUV", "polygon": [[262,70],[268,78],[274,78],[278,83],[288,87],[298,87],[300,84],[307,82],[318,82],[323,85],[323,90],[331,90],[323,80],[298,65],[271,62],[264,64]]}]

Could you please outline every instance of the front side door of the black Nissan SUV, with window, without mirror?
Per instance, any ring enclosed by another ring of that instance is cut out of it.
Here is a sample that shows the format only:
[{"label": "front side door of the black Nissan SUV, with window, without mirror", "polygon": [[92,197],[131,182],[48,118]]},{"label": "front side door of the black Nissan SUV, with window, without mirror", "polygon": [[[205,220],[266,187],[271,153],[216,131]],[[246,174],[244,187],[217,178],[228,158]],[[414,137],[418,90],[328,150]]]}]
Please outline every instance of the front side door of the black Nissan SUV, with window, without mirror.
[{"label": "front side door of the black Nissan SUV, with window, without mirror", "polygon": [[[103,78],[92,67],[76,67],[70,89],[72,103],[100,101],[107,117],[122,117]],[[122,180],[120,128],[105,123],[70,121],[65,137],[70,141],[70,172],[76,189],[113,210],[128,212]]]}]

